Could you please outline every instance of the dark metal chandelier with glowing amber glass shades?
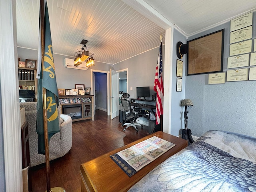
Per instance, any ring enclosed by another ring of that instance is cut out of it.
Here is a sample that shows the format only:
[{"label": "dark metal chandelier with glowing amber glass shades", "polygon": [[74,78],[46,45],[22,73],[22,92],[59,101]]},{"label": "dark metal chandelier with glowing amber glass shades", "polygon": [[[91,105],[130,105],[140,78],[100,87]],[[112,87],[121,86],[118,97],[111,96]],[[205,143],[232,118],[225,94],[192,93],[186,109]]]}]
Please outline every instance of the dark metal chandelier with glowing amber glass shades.
[{"label": "dark metal chandelier with glowing amber glass shades", "polygon": [[93,58],[93,54],[90,55],[90,52],[87,50],[87,46],[86,43],[88,41],[87,40],[82,40],[80,42],[80,44],[82,44],[82,48],[80,50],[76,50],[76,53],[74,54],[74,56],[76,57],[74,59],[74,66],[78,67],[80,66],[80,64],[82,64],[82,62],[86,62],[86,67],[91,67],[94,66],[94,58]]}]

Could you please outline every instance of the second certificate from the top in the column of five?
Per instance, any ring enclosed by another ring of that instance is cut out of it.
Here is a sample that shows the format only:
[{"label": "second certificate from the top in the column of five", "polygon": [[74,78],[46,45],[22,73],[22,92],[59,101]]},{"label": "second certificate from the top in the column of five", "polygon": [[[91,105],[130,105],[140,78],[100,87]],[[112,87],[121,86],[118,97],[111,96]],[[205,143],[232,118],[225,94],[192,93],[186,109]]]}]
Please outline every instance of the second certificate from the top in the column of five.
[{"label": "second certificate from the top in the column of five", "polygon": [[252,26],[230,32],[230,44],[252,38]]}]

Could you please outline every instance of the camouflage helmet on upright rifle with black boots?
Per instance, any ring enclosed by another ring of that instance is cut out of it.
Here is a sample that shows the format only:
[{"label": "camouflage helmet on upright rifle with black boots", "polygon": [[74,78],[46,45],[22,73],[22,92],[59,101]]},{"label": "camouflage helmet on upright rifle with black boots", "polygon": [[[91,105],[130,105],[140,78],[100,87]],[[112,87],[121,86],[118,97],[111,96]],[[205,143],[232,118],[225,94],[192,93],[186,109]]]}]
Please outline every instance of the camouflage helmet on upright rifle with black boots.
[{"label": "camouflage helmet on upright rifle with black boots", "polygon": [[194,140],[192,138],[192,133],[191,130],[188,129],[188,111],[187,111],[187,107],[188,106],[193,106],[193,102],[190,99],[184,99],[181,101],[181,106],[185,106],[185,112],[184,112],[184,118],[185,118],[185,129],[181,129],[182,130],[182,139],[186,139],[189,141],[189,143],[193,143]]}]

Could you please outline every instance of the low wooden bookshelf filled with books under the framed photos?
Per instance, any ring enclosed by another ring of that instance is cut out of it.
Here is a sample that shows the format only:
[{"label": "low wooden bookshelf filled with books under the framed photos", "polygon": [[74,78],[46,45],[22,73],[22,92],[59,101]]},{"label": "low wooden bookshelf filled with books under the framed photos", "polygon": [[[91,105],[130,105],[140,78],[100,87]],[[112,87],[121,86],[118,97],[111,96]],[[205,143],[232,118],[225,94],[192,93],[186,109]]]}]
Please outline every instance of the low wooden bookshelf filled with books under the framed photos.
[{"label": "low wooden bookshelf filled with books under the framed photos", "polygon": [[72,122],[94,120],[93,95],[59,95],[61,114],[71,116]]}]

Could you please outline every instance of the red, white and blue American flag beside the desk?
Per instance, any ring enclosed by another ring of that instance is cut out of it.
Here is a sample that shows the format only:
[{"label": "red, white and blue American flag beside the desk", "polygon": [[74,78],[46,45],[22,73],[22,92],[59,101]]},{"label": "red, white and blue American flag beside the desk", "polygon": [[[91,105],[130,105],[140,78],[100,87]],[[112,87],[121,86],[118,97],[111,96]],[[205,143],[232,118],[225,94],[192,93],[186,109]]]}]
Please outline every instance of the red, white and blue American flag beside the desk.
[{"label": "red, white and blue American flag beside the desk", "polygon": [[154,91],[156,92],[156,125],[160,124],[160,115],[163,114],[164,102],[164,84],[162,79],[163,59],[162,59],[162,41],[159,46],[158,61],[156,65],[156,76],[154,82]]}]

